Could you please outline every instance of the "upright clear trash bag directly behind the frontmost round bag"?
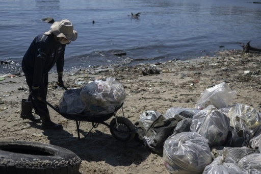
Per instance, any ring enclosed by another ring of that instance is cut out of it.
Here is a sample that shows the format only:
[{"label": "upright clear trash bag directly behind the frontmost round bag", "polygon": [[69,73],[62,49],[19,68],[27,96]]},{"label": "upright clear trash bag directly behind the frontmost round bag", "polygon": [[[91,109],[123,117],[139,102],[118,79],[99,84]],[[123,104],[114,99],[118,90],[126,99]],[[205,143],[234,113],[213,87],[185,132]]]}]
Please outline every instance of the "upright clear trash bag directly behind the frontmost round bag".
[{"label": "upright clear trash bag directly behind the frontmost round bag", "polygon": [[194,115],[190,127],[191,132],[208,139],[210,146],[223,145],[229,129],[229,118],[212,105]]}]

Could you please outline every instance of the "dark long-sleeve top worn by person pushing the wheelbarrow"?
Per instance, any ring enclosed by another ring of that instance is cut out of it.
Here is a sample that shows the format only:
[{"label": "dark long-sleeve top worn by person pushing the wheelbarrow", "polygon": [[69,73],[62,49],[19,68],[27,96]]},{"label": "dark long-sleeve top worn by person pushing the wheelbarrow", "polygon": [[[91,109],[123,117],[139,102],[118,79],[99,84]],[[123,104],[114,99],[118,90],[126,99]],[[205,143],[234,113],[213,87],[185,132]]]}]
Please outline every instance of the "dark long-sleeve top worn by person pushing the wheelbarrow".
[{"label": "dark long-sleeve top worn by person pushing the wheelbarrow", "polygon": [[63,71],[66,44],[60,44],[53,34],[35,37],[22,59],[22,70],[33,77],[33,86],[39,86],[42,74],[49,72],[56,64],[57,71]]}]

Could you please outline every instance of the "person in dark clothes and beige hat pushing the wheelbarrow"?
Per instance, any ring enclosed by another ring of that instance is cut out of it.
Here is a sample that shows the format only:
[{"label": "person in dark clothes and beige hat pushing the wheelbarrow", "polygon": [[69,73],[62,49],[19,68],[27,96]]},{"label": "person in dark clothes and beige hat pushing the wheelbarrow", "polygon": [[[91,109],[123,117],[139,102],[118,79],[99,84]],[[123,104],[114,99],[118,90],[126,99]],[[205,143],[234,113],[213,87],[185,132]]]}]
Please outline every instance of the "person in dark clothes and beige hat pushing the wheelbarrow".
[{"label": "person in dark clothes and beige hat pushing the wheelbarrow", "polygon": [[[38,100],[46,100],[48,72],[56,64],[58,83],[63,84],[64,52],[66,44],[75,41],[77,32],[72,23],[63,19],[54,22],[50,30],[35,37],[22,59],[22,70],[30,89],[28,100],[22,100],[21,115],[23,119],[42,120],[43,129],[62,129],[62,125],[50,120],[47,105]],[[40,116],[34,116],[32,109]]]}]

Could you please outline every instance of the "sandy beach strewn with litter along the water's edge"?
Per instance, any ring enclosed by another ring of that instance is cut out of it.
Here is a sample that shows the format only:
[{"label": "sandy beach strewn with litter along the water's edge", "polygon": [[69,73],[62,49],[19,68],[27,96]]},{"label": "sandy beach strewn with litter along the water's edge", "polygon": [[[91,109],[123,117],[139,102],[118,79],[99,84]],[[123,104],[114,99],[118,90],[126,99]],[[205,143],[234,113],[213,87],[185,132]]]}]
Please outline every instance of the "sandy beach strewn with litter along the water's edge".
[{"label": "sandy beach strewn with litter along the water's edge", "polygon": [[[65,86],[70,89],[81,88],[95,79],[114,77],[127,94],[123,105],[124,115],[134,123],[148,110],[165,114],[171,107],[195,108],[201,92],[222,82],[237,91],[231,104],[249,105],[259,112],[260,64],[260,53],[229,50],[214,57],[188,61],[80,69],[75,73],[65,73],[63,79]],[[144,68],[156,69],[157,73],[148,71],[145,74]],[[22,75],[1,75],[5,78],[0,81],[1,140],[26,140],[65,147],[82,159],[82,174],[169,173],[162,156],[152,153],[136,139],[131,142],[116,140],[104,125],[99,125],[83,138],[92,124],[81,122],[82,139],[79,140],[75,121],[64,118],[51,108],[51,119],[61,123],[63,130],[42,130],[41,123],[22,120],[21,100],[29,94]],[[63,88],[56,86],[56,81],[57,74],[50,74],[47,101],[54,106],[58,106],[64,93]],[[119,110],[117,115],[122,116],[122,111]]]}]

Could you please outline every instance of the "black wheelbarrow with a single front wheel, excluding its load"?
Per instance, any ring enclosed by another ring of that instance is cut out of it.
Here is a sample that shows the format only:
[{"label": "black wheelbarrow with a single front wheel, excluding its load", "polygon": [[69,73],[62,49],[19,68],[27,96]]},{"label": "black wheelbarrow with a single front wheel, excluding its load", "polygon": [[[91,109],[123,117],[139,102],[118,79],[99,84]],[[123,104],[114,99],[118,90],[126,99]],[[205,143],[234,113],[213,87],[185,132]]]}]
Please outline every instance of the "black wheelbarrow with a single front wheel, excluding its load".
[{"label": "black wheelbarrow with a single front wheel, excluding its load", "polygon": [[[67,90],[67,88],[65,88]],[[78,138],[81,139],[80,137],[80,123],[81,121],[87,121],[92,123],[92,128],[91,130],[86,134],[84,138],[86,138],[89,133],[93,130],[93,128],[97,128],[99,124],[105,125],[110,129],[110,132],[112,136],[118,140],[121,141],[131,141],[137,132],[137,127],[127,118],[124,116],[123,112],[123,103],[115,108],[115,111],[112,113],[108,114],[97,114],[93,115],[90,113],[81,113],[81,114],[68,114],[68,113],[62,113],[59,111],[58,108],[54,107],[47,101],[42,100],[41,98],[38,98],[38,100],[41,100],[44,102],[46,105],[48,105],[50,108],[54,109],[56,112],[58,112],[60,115],[63,117],[74,120],[76,122],[76,128],[77,128],[77,135]],[[123,116],[119,117],[116,115],[116,111],[119,109],[122,109]],[[106,120],[110,119],[112,116],[114,118],[111,120],[110,124],[105,122]]]}]

